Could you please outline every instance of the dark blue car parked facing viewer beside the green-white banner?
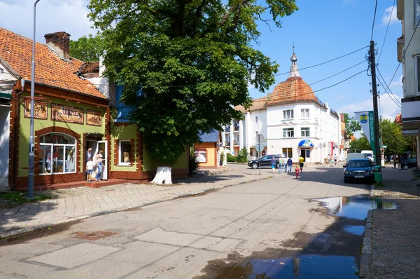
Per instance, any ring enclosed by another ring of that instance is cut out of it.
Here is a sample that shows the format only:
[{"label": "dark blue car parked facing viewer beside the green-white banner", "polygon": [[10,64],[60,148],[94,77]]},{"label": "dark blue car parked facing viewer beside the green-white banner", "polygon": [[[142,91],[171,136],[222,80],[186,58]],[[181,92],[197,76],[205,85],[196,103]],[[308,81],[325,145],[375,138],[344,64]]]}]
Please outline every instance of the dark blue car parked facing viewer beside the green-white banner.
[{"label": "dark blue car parked facing viewer beside the green-white banner", "polygon": [[350,180],[367,180],[374,183],[373,163],[369,159],[353,159],[344,165],[344,183]]}]

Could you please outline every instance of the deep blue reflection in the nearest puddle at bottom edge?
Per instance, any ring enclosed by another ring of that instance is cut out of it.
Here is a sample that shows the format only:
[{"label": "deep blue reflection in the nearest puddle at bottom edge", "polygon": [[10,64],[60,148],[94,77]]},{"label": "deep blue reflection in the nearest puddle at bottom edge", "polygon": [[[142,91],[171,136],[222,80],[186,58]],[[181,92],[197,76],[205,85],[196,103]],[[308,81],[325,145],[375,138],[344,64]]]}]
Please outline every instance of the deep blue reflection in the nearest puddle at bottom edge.
[{"label": "deep blue reflection in the nearest puddle at bottom edge", "polygon": [[358,278],[356,259],[305,255],[298,258],[252,260],[248,278]]}]

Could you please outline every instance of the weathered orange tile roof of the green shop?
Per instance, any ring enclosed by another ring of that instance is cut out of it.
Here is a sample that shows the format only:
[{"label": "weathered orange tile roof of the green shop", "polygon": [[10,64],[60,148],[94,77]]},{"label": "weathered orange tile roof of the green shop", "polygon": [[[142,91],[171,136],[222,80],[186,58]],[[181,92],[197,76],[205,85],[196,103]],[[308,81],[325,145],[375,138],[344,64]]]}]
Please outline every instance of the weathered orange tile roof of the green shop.
[{"label": "weathered orange tile roof of the green shop", "polygon": [[[64,61],[43,43],[35,43],[35,52],[36,83],[106,99],[90,81],[80,79],[75,74],[84,64],[83,61],[72,57],[69,62]],[[0,57],[22,79],[31,80],[31,39],[0,28]]]}]

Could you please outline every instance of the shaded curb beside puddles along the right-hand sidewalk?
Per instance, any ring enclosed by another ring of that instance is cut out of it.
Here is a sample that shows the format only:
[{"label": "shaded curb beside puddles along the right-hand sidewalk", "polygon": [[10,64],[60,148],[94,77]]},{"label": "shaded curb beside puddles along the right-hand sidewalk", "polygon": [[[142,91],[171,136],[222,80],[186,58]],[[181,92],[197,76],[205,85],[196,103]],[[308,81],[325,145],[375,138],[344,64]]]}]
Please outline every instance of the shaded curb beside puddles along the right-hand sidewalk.
[{"label": "shaded curb beside puddles along the right-hand sidewalk", "polygon": [[360,257],[359,276],[361,278],[369,278],[370,276],[370,267],[372,265],[372,250],[373,250],[372,224],[373,224],[373,210],[369,210],[367,212],[365,233],[363,235],[362,255]]}]

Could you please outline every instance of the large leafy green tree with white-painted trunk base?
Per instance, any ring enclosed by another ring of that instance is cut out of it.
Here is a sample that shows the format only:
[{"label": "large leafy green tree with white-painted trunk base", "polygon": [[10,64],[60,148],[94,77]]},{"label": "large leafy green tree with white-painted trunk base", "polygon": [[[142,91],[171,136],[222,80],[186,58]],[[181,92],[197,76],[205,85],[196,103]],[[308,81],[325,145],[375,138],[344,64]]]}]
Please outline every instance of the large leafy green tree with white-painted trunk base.
[{"label": "large leafy green tree with white-painted trunk base", "polygon": [[248,83],[264,92],[275,82],[278,65],[253,47],[257,26],[281,27],[297,10],[295,0],[91,0],[88,8],[106,42],[104,75],[125,86],[130,120],[160,165],[155,183],[170,182],[167,167],[200,130],[241,118],[233,107],[251,104]]}]

